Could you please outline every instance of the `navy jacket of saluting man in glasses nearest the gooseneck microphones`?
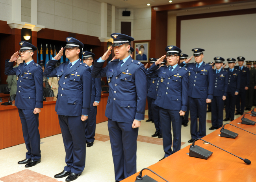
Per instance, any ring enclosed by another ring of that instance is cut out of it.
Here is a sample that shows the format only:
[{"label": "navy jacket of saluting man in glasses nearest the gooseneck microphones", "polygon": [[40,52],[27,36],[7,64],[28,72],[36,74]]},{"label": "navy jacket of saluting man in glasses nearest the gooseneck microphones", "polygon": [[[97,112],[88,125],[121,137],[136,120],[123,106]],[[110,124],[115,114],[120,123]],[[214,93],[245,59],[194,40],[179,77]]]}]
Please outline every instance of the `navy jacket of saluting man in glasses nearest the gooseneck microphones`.
[{"label": "navy jacket of saluting man in glasses nearest the gooseneck microphones", "polygon": [[158,77],[156,105],[169,110],[187,111],[189,82],[187,68],[176,66],[173,71],[169,71],[169,66],[158,68],[159,66],[152,64],[147,71],[147,77]]}]

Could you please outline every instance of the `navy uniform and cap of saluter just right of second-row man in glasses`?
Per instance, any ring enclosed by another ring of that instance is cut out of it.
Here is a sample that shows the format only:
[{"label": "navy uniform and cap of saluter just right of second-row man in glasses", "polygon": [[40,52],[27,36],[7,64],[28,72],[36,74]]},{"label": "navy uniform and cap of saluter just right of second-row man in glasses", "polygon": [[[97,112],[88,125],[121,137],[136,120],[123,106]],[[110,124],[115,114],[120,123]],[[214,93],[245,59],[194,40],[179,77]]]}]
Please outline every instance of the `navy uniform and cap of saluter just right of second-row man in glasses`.
[{"label": "navy uniform and cap of saluter just right of second-row man in glasses", "polygon": [[[204,49],[192,49],[194,56],[200,56]],[[191,126],[190,133],[192,140],[206,136],[206,99],[213,99],[213,69],[210,64],[201,62],[184,64],[190,71],[189,76],[189,109]],[[199,126],[197,125],[197,117],[199,117]]]}]

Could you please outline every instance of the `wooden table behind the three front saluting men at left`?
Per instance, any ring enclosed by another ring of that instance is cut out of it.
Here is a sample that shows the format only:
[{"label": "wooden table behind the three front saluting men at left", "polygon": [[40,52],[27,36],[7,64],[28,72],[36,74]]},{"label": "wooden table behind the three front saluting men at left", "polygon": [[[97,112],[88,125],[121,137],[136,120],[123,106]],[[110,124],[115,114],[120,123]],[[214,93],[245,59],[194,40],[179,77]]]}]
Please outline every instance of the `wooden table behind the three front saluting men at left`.
[{"label": "wooden table behind the three front saluting men at left", "polygon": [[[96,123],[108,120],[105,116],[108,95],[102,92],[100,104],[97,106]],[[13,101],[13,105],[0,105],[0,149],[24,143],[18,109],[14,104],[15,101]],[[61,133],[55,105],[56,97],[47,97],[46,101],[43,102],[43,108],[39,113],[39,133],[41,138]]]}]

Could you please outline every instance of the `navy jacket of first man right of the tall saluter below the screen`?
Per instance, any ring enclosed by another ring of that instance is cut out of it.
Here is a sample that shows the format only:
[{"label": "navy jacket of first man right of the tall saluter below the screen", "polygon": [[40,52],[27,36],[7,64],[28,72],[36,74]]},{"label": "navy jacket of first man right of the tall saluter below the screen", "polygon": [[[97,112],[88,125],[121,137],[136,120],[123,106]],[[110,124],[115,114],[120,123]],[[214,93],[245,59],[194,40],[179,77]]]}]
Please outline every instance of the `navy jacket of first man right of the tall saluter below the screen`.
[{"label": "navy jacket of first man right of the tall saluter below the screen", "polygon": [[213,70],[214,77],[214,91],[213,96],[227,96],[228,92],[228,71],[221,69],[217,74],[216,69]]}]

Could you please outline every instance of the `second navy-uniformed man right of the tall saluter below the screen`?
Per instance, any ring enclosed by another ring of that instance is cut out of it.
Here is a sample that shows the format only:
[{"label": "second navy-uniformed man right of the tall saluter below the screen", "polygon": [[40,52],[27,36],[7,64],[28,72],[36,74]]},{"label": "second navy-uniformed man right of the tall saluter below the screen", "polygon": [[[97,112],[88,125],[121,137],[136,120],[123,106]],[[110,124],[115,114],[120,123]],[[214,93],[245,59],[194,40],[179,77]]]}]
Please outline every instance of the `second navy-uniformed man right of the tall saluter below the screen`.
[{"label": "second navy-uniformed man right of the tall saluter below the screen", "polygon": [[234,68],[236,59],[228,58],[228,94],[226,96],[226,118],[223,121],[233,121],[235,114],[236,96],[240,89],[240,70]]}]

